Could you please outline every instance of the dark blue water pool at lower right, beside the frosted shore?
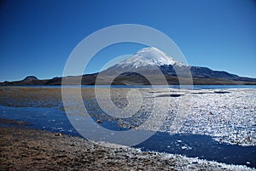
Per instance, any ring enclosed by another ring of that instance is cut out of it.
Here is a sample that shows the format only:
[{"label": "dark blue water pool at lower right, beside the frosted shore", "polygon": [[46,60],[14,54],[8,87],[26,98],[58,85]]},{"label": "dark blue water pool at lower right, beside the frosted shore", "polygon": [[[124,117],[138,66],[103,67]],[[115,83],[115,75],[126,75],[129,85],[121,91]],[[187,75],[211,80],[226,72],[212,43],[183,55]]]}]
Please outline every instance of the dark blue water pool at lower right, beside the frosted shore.
[{"label": "dark blue water pool at lower right, beside the frosted shore", "polygon": [[218,143],[208,135],[157,132],[135,147],[256,168],[256,146]]}]

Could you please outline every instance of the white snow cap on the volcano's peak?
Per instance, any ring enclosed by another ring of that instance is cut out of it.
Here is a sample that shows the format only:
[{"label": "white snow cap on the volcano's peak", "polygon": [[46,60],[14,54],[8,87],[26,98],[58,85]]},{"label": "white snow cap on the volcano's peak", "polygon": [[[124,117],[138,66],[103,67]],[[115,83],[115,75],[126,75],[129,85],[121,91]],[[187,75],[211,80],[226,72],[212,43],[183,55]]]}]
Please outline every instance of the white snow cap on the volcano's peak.
[{"label": "white snow cap on the volcano's peak", "polygon": [[137,54],[132,55],[130,58],[120,62],[118,66],[125,67],[141,67],[141,66],[164,66],[164,65],[177,65],[185,66],[183,63],[174,60],[171,56],[165,54],[158,48],[142,48]]}]

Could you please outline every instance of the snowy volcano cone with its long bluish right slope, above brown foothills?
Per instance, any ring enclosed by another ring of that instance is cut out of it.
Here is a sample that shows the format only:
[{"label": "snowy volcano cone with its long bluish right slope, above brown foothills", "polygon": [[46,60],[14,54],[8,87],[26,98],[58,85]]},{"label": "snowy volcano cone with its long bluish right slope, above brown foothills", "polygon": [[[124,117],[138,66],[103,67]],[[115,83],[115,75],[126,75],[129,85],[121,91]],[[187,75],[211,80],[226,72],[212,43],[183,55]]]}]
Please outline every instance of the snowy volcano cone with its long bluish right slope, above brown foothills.
[{"label": "snowy volcano cone with its long bluish right slope, above brown foothills", "polygon": [[[173,77],[177,77],[178,75],[178,77],[192,76],[197,79],[216,78],[230,81],[256,82],[256,78],[239,77],[226,71],[212,71],[207,67],[185,65],[174,60],[171,56],[160,51],[158,48],[142,48],[137,54],[108,68],[105,72],[108,73],[108,75],[125,71],[154,75],[159,69],[164,75]],[[190,73],[188,74],[188,72],[191,72],[191,75]]]}]

